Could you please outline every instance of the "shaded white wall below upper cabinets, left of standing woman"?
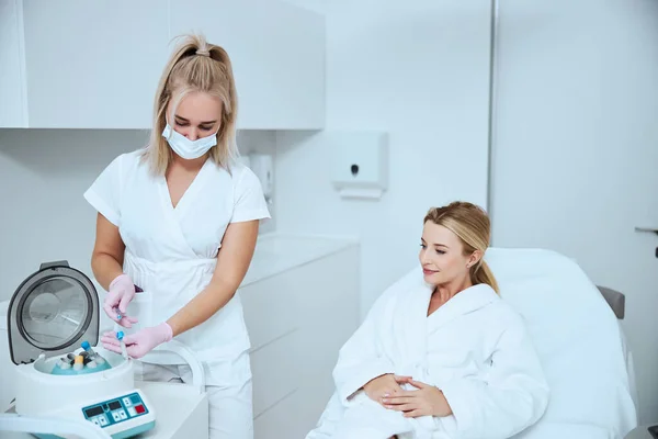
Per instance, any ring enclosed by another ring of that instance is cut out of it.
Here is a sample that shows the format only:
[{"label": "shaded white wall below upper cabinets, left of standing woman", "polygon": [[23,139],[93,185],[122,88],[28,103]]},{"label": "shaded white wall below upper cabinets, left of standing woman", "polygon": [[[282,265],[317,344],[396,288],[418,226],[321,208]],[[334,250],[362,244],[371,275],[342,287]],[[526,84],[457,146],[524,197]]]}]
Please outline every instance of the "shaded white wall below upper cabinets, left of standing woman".
[{"label": "shaded white wall below upper cabinets, left of standing woman", "polygon": [[[42,262],[66,259],[92,275],[95,212],[82,194],[146,140],[141,131],[0,130],[0,301]],[[241,132],[238,142],[243,154],[274,151],[273,132]]]}]

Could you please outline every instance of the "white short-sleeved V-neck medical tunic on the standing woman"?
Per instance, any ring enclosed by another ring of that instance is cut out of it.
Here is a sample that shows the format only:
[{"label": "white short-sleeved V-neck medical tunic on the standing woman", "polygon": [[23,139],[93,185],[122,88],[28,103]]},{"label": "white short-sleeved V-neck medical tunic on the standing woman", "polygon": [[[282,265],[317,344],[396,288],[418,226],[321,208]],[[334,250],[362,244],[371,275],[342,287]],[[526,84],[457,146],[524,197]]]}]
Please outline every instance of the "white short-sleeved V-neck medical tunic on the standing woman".
[{"label": "white short-sleeved V-neck medical tunic on the standing woman", "polygon": [[[173,207],[164,176],[154,177],[140,156],[140,150],[118,156],[84,193],[118,227],[124,272],[144,290],[127,312],[139,319],[136,329],[166,322],[205,289],[230,223],[270,217],[260,181],[242,165],[229,173],[206,160]],[[225,379],[249,373],[230,367],[250,348],[238,294],[175,339]]]}]

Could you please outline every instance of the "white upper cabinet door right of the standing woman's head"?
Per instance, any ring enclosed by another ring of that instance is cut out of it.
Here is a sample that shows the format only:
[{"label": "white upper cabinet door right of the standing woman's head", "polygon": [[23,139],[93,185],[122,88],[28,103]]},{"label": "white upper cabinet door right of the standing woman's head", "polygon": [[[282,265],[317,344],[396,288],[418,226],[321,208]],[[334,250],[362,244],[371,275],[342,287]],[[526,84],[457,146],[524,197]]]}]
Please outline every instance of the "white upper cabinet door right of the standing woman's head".
[{"label": "white upper cabinet door right of the standing woman's head", "polygon": [[274,0],[170,0],[170,5],[172,36],[203,33],[228,52],[239,128],[324,126],[322,15]]}]

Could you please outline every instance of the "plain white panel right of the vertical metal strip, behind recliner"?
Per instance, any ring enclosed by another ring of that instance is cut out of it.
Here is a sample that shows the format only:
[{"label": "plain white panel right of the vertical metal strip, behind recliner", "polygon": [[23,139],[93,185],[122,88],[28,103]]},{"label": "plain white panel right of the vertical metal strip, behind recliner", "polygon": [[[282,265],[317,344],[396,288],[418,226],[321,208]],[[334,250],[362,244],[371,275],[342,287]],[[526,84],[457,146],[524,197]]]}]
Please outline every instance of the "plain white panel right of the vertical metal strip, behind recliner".
[{"label": "plain white panel right of the vertical metal strip, behind recliner", "polygon": [[[640,421],[658,421],[658,3],[501,2],[494,245],[575,257],[626,294]],[[602,385],[605,385],[602,383]]]}]

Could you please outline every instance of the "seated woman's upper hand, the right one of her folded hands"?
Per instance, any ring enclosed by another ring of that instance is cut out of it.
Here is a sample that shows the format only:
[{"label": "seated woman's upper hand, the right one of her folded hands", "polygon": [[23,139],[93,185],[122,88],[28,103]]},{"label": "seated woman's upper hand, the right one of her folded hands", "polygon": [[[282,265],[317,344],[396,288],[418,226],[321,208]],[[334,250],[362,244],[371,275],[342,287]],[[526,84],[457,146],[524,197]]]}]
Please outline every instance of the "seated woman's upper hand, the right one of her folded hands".
[{"label": "seated woman's upper hand, the right one of her folded hands", "polygon": [[408,383],[418,390],[401,390],[392,396],[384,397],[382,399],[382,405],[385,408],[402,412],[402,415],[408,418],[416,418],[419,416],[443,417],[452,415],[450,404],[443,395],[443,392],[439,389],[411,379],[404,383],[400,381],[398,382],[400,384]]}]

